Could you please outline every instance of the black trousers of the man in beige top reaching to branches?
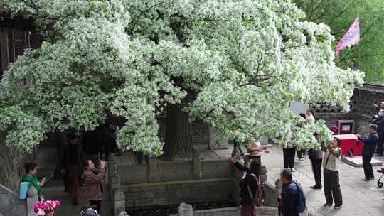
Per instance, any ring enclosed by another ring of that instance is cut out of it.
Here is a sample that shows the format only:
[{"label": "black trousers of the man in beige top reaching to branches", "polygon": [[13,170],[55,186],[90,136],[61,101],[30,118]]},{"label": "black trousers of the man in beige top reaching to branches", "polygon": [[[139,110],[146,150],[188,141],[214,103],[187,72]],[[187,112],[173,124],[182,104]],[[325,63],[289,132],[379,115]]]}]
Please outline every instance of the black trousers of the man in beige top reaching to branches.
[{"label": "black trousers of the man in beige top reaching to branches", "polygon": [[343,205],[343,195],[341,195],[338,171],[330,171],[324,169],[324,195],[326,203],[335,205]]}]

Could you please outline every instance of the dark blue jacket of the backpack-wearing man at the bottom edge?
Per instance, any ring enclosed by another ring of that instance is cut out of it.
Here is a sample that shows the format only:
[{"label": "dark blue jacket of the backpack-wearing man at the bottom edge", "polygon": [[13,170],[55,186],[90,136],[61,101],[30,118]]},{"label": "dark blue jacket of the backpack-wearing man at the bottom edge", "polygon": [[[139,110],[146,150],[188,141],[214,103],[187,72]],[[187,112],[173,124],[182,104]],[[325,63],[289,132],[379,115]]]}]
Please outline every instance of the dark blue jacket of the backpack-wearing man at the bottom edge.
[{"label": "dark blue jacket of the backpack-wearing man at the bottom edge", "polygon": [[281,197],[282,201],[279,206],[279,209],[284,216],[299,215],[299,212],[296,210],[298,194],[299,191],[297,185],[293,183],[293,180],[289,184],[284,185]]}]

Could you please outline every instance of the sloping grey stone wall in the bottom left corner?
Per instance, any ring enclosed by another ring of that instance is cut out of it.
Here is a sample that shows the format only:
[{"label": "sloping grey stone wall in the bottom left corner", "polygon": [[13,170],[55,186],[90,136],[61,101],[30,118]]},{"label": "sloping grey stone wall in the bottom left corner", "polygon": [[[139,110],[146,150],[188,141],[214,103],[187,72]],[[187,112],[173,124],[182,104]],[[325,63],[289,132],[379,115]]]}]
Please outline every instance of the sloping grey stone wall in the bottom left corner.
[{"label": "sloping grey stone wall in the bottom left corner", "polygon": [[0,215],[25,216],[26,201],[19,200],[18,195],[0,184]]}]

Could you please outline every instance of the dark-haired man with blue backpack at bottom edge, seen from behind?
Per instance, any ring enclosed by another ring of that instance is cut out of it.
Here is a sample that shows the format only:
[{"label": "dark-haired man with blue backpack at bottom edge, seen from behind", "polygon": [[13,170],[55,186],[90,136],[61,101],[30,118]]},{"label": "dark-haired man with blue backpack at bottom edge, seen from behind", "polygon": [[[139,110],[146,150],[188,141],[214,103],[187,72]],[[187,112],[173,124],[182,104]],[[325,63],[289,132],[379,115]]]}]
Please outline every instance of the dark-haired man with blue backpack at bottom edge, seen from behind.
[{"label": "dark-haired man with blue backpack at bottom edge, seen from behind", "polygon": [[296,209],[297,199],[299,196],[299,188],[292,180],[292,171],[284,169],[280,173],[280,180],[283,182],[282,195],[277,199],[279,202],[279,212],[284,216],[299,216]]}]

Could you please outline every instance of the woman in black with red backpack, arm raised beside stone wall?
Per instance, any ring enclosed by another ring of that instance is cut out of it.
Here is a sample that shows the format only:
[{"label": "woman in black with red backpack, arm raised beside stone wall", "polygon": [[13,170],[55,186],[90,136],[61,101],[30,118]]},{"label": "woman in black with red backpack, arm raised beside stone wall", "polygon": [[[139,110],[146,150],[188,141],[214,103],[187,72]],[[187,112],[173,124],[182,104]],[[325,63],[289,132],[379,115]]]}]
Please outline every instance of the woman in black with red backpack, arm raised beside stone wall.
[{"label": "woman in black with red backpack, arm raised beside stone wall", "polygon": [[252,159],[248,167],[242,166],[234,158],[230,158],[230,161],[242,172],[239,183],[241,216],[255,216],[253,198],[257,199],[256,190],[258,182],[260,182],[260,161]]}]

